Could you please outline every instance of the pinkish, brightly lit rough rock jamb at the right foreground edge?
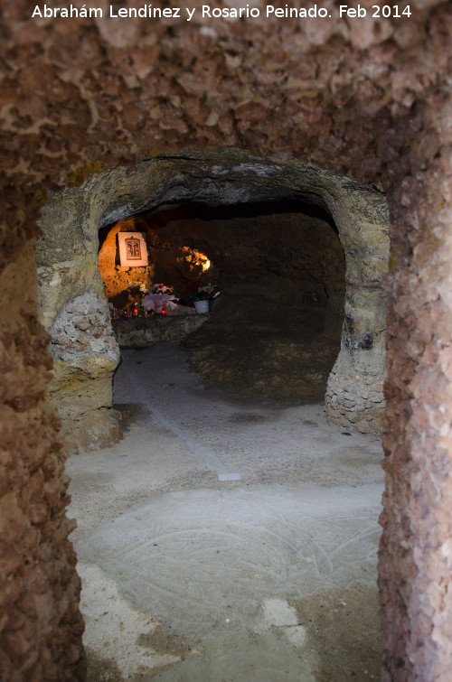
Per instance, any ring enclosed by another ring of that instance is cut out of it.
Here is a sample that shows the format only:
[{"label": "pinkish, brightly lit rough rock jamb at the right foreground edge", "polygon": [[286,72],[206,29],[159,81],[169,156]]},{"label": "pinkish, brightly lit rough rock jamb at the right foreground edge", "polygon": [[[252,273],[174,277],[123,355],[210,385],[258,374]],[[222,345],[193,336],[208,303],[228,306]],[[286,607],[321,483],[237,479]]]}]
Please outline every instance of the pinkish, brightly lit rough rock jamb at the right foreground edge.
[{"label": "pinkish, brightly lit rough rock jamb at the right foreground edge", "polygon": [[[392,196],[393,272],[379,562],[383,680],[452,669],[452,107],[442,147]],[[396,229],[397,226],[397,229]]]}]

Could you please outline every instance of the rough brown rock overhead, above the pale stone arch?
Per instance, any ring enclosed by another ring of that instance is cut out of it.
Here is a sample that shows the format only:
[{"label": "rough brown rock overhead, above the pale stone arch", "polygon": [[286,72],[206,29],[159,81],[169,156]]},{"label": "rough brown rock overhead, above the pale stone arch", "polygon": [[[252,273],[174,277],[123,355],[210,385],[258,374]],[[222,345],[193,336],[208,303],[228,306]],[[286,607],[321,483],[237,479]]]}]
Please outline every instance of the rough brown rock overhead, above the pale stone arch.
[{"label": "rough brown rock overhead, above the pale stone arch", "polygon": [[[27,0],[5,0],[8,176],[30,175],[32,197],[42,184],[80,180],[83,164],[235,145],[386,188],[400,182],[410,161],[438,151],[424,114],[447,72],[448,8],[414,0],[410,17],[377,20],[374,4],[363,0],[360,21],[340,19],[339,0],[325,0],[332,20],[231,22],[202,18],[195,2],[191,22],[158,22],[32,19]],[[108,14],[106,0],[96,6]]]}]

